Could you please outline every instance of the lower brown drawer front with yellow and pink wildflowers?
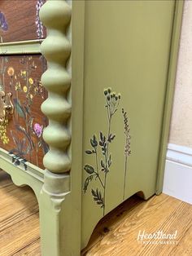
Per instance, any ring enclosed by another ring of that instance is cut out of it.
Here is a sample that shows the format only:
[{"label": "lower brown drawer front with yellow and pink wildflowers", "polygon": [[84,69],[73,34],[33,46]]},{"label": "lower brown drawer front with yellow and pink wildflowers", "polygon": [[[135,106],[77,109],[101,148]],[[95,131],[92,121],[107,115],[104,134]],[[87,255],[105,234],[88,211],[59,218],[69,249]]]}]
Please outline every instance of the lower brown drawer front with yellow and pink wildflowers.
[{"label": "lower brown drawer front with yellow and pink wildflowers", "polygon": [[0,126],[0,148],[12,157],[16,166],[27,168],[27,162],[43,168],[42,158],[48,151],[42,139],[47,119],[41,103],[47,92],[41,85],[46,60],[41,55],[0,57],[0,90],[12,93],[14,113],[6,126]]}]

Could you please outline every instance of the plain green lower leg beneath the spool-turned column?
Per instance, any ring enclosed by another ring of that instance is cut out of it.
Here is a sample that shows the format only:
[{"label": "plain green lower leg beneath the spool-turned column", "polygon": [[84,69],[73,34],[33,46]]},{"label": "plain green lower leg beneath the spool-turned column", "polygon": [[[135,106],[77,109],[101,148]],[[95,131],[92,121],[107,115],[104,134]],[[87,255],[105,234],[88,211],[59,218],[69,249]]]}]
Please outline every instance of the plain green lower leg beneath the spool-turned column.
[{"label": "plain green lower leg beneath the spool-turned column", "polygon": [[42,256],[80,255],[80,232],[74,227],[68,188],[68,174],[46,171],[39,200]]}]

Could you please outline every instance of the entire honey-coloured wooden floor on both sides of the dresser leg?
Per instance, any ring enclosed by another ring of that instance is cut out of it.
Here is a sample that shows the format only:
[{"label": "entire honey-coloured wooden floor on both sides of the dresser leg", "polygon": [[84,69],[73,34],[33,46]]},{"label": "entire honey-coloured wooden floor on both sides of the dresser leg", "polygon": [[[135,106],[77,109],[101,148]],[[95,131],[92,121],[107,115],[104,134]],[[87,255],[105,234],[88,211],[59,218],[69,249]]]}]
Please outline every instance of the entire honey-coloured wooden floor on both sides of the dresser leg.
[{"label": "entire honey-coloured wooden floor on both sides of the dresser leg", "polygon": [[[32,190],[16,187],[0,171],[0,199],[0,255],[41,255],[38,206]],[[139,231],[168,234],[176,230],[176,245],[145,245],[137,241]],[[191,256],[191,241],[192,205],[164,194],[148,201],[133,196],[98,223],[82,255]]]}]

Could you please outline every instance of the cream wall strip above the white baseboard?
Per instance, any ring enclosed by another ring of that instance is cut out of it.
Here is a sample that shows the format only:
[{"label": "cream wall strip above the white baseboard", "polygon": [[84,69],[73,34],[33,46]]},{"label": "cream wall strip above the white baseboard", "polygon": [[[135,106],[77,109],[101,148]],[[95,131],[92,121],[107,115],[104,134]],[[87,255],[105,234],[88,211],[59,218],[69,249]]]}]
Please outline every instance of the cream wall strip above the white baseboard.
[{"label": "cream wall strip above the white baseboard", "polygon": [[192,148],[192,1],[185,1],[169,143]]}]

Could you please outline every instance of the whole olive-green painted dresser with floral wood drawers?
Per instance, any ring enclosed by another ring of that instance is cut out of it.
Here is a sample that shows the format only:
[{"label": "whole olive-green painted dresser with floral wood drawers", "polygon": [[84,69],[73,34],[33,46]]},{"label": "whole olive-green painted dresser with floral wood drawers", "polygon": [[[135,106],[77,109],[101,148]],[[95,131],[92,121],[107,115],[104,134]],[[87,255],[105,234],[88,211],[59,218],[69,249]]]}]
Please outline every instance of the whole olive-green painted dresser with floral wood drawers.
[{"label": "whole olive-green painted dresser with floral wood drawers", "polygon": [[44,2],[0,3],[0,168],[37,196],[41,254],[78,256],[162,191],[183,3]]}]

